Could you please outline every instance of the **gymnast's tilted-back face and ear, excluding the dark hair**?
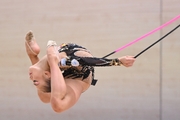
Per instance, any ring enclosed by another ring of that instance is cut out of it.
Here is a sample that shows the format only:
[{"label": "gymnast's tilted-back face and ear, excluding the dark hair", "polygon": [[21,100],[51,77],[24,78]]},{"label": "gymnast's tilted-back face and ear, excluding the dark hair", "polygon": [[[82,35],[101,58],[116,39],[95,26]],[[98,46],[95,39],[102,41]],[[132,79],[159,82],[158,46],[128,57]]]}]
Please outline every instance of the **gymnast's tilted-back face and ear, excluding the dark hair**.
[{"label": "gymnast's tilted-back face and ear, excluding the dark hair", "polygon": [[33,84],[37,87],[37,89],[42,89],[46,86],[45,80],[50,76],[50,72],[42,70],[38,66],[30,66],[29,67],[29,77],[30,80],[33,81]]}]

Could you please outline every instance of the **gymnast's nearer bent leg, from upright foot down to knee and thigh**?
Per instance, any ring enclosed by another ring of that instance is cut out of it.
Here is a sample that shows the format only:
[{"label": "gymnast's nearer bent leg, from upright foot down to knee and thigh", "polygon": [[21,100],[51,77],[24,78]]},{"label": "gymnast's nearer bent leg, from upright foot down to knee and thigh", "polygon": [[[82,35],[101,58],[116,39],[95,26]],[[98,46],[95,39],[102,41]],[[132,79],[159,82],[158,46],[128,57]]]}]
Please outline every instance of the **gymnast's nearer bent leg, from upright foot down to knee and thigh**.
[{"label": "gymnast's nearer bent leg, from upright foot down to knee and thigh", "polygon": [[51,71],[51,97],[50,103],[55,112],[62,112],[73,106],[80,97],[83,88],[81,82],[66,84],[58,66],[58,58],[54,47],[47,49],[47,59]]}]

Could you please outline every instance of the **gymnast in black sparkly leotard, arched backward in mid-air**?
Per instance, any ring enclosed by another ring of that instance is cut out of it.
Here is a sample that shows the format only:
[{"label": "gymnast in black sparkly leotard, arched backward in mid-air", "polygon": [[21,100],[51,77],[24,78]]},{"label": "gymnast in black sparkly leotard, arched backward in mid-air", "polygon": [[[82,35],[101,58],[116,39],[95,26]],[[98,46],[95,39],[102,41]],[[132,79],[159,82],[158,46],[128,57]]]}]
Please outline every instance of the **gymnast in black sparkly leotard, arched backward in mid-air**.
[{"label": "gymnast in black sparkly leotard, arched backward in mid-air", "polygon": [[48,41],[46,55],[40,59],[40,47],[32,31],[25,36],[25,47],[32,63],[30,80],[36,86],[40,100],[50,103],[57,113],[71,108],[90,85],[96,84],[94,67],[131,67],[135,61],[133,56],[96,58],[82,46],[73,43],[58,46],[55,41]]}]

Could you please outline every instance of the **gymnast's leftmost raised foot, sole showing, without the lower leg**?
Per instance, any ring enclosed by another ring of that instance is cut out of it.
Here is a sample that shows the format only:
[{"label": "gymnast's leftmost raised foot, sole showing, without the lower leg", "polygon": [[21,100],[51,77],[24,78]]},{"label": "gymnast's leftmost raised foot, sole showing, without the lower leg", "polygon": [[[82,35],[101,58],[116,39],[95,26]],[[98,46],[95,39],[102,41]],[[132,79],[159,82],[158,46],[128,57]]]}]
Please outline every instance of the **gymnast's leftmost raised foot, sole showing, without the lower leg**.
[{"label": "gymnast's leftmost raised foot, sole showing, without the lower leg", "polygon": [[26,52],[29,56],[37,56],[40,52],[40,47],[36,43],[35,37],[32,31],[29,31],[25,37]]}]

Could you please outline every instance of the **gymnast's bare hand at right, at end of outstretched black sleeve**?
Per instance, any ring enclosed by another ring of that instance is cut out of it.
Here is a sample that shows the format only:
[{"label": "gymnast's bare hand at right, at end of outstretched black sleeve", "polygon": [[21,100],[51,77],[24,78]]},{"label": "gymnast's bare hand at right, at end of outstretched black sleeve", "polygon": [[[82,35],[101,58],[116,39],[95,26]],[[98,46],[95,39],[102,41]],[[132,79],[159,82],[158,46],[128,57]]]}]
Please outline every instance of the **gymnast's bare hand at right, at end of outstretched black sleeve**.
[{"label": "gymnast's bare hand at right, at end of outstretched black sleeve", "polygon": [[133,63],[135,62],[134,56],[123,56],[118,59],[121,61],[122,65],[125,67],[131,67]]}]

